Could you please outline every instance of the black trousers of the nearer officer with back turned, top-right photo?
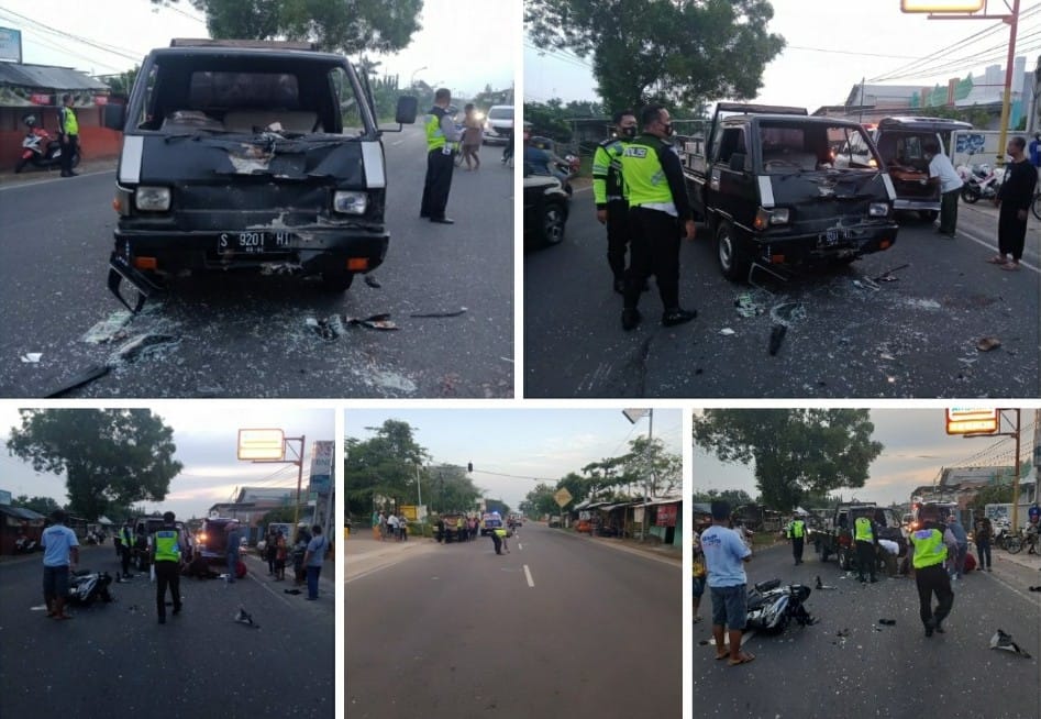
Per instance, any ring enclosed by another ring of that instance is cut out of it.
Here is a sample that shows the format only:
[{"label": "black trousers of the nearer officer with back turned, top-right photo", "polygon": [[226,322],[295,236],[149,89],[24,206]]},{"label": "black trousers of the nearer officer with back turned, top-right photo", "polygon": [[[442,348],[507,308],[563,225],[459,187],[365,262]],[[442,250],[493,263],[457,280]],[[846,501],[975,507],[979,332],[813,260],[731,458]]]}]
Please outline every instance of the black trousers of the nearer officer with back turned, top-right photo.
[{"label": "black trousers of the nearer officer with back turned, top-right photo", "polygon": [[625,273],[625,307],[635,309],[640,292],[654,275],[665,310],[679,307],[679,220],[642,207],[629,209],[630,255]]}]

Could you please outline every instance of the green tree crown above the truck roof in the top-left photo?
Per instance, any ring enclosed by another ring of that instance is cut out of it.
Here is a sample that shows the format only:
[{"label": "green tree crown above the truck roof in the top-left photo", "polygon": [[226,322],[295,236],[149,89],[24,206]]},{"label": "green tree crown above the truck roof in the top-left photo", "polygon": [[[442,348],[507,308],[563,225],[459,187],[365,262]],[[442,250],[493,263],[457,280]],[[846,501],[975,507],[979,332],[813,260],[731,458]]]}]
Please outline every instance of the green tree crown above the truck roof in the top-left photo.
[{"label": "green tree crown above the truck roof in the top-left photo", "polygon": [[[179,0],[151,0],[176,4]],[[212,37],[306,40],[345,55],[394,53],[420,30],[423,0],[189,0]]]}]

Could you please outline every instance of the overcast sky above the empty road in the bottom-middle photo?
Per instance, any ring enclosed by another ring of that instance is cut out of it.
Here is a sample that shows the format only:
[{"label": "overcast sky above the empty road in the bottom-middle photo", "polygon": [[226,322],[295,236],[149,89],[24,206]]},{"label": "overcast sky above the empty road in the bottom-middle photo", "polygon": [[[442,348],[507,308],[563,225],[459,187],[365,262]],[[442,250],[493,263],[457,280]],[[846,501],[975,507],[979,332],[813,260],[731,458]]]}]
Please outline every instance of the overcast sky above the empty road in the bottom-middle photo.
[{"label": "overcast sky above the empty road in the bottom-middle photo", "polygon": [[[590,462],[628,452],[645,436],[647,419],[631,424],[618,409],[353,410],[345,412],[347,436],[373,436],[366,427],[385,420],[408,422],[432,464],[474,463],[474,484],[485,496],[516,509],[540,482],[555,485]],[[680,410],[654,411],[654,436],[683,454]],[[510,476],[501,476],[510,475]],[[424,499],[427,504],[427,499]]]}]

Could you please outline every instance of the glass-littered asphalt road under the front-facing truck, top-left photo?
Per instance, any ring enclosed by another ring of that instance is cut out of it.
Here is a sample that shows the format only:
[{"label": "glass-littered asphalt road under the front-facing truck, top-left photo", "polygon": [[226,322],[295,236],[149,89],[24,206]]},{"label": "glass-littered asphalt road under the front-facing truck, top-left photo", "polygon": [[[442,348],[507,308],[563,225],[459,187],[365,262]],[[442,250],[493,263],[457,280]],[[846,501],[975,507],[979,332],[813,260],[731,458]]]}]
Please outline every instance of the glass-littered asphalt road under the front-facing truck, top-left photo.
[{"label": "glass-littered asphalt road under the front-facing truck, top-left photo", "polygon": [[[456,170],[455,225],[419,219],[422,129],[384,136],[390,248],[344,295],[301,278],[184,278],[131,319],[107,287],[114,173],[11,178],[0,188],[0,396],[44,397],[91,366],[71,397],[512,397],[513,184],[496,148]],[[308,320],[390,313],[398,331]],[[412,317],[445,314],[454,317]],[[32,355],[32,356],[26,356]],[[35,355],[40,355],[35,357]],[[35,362],[33,360],[36,360]]]}]

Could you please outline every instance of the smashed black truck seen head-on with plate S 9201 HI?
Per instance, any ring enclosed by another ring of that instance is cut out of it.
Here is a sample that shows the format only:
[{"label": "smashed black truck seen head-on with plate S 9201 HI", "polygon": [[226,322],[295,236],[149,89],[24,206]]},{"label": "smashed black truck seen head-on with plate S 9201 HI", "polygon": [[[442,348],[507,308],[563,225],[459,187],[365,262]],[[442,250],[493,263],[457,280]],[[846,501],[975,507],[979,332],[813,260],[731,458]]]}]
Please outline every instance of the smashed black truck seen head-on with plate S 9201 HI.
[{"label": "smashed black truck seen head-on with plate S 9201 HI", "polygon": [[[318,275],[343,291],[383,263],[372,91],[342,56],[301,45],[175,40],[145,58],[125,111],[107,107],[123,131],[108,284],[132,311],[184,273]],[[398,130],[414,119],[402,98]]]}]

